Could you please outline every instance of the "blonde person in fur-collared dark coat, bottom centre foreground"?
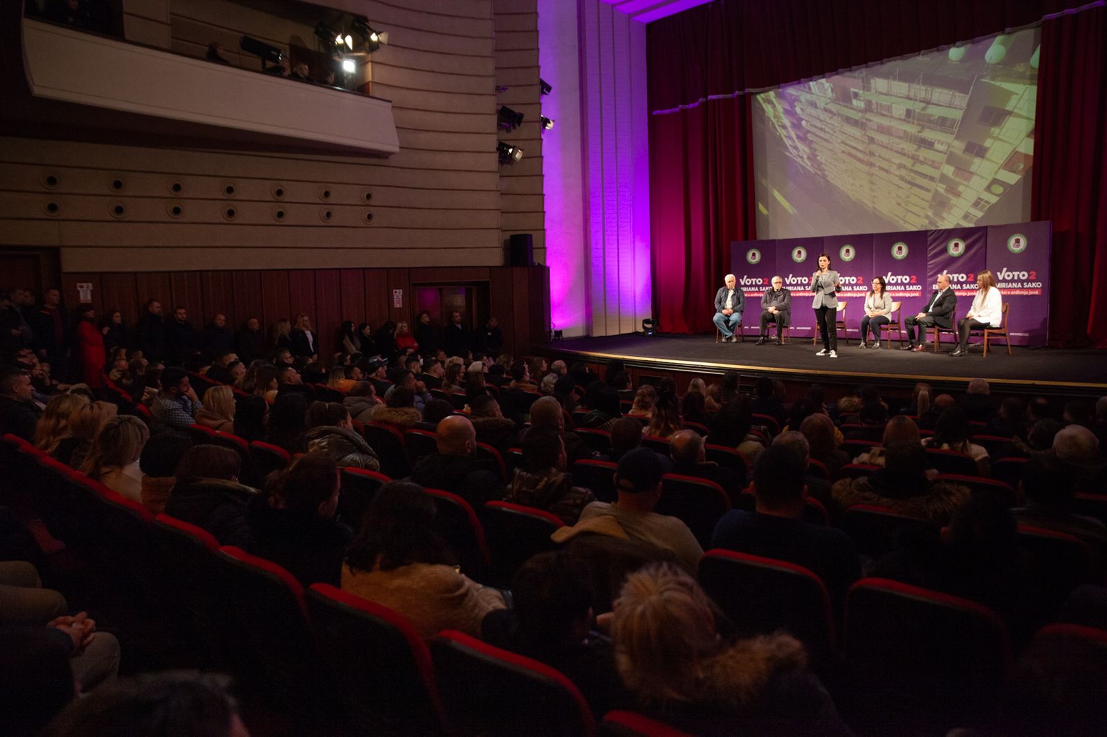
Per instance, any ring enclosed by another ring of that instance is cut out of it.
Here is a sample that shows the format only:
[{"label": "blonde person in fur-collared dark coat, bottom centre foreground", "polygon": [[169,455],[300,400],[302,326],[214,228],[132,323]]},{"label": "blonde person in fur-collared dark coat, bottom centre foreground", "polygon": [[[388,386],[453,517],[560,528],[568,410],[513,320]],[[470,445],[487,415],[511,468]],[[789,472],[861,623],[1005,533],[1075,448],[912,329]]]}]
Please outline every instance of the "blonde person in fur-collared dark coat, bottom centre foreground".
[{"label": "blonde person in fur-collared dark coat, bottom centre foreground", "polygon": [[695,735],[849,735],[804,646],[783,633],[720,636],[706,594],[671,564],[627,577],[611,636],[646,716]]}]

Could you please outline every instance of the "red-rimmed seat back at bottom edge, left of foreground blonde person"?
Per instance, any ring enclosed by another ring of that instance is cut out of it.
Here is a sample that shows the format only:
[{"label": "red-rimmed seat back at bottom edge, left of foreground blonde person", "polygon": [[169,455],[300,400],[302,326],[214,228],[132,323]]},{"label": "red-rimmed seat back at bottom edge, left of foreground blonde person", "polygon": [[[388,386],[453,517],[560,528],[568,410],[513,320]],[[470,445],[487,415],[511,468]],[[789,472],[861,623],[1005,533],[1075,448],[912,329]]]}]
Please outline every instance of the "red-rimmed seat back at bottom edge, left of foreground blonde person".
[{"label": "red-rimmed seat back at bottom edge, left of foreground blonde person", "polygon": [[583,695],[544,663],[444,630],[431,653],[452,727],[463,735],[596,734]]}]

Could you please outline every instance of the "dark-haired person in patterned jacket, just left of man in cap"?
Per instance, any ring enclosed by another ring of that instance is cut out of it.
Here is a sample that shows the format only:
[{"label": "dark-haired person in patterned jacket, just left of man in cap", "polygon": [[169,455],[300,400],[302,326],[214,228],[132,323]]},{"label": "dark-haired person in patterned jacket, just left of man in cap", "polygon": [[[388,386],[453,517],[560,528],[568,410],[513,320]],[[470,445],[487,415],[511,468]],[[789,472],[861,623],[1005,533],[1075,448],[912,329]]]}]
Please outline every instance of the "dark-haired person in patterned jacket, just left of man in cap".
[{"label": "dark-haired person in patterned jacket, just left of man in cap", "polygon": [[581,510],[596,495],[572,485],[566,473],[565,446],[557,430],[531,429],[523,443],[523,467],[515,469],[504,497],[507,501],[554,512],[566,525],[576,525]]}]

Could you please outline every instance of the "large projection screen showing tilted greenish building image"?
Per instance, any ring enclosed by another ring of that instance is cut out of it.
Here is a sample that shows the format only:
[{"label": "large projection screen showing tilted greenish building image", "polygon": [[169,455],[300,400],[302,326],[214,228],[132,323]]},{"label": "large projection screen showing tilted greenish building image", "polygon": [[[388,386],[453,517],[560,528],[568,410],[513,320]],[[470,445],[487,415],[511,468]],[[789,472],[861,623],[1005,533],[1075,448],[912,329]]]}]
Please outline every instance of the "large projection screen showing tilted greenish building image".
[{"label": "large projection screen showing tilted greenish building image", "polygon": [[1022,31],[757,95],[758,233],[1026,219],[1036,49]]}]

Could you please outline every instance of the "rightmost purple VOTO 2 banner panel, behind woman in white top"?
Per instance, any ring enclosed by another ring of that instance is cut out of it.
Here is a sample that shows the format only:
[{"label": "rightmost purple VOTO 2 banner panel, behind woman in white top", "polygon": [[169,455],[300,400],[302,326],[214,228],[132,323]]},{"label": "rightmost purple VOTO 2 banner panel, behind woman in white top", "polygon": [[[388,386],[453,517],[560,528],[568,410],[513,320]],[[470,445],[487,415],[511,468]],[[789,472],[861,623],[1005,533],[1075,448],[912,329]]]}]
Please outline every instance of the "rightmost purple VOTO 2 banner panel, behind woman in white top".
[{"label": "rightmost purple VOTO 2 banner panel, behind woman in white top", "polygon": [[1052,237],[1048,221],[987,229],[987,268],[1011,305],[1007,331],[1014,345],[1046,344]]}]

